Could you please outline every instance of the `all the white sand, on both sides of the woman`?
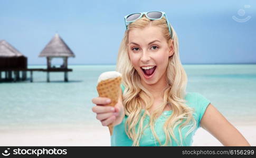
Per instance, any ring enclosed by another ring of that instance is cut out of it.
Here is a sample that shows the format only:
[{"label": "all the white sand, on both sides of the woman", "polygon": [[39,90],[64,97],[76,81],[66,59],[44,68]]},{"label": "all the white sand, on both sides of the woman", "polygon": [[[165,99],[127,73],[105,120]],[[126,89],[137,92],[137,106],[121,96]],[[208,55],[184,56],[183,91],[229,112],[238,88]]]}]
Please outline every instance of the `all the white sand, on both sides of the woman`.
[{"label": "all the white sand, on both sides of the woman", "polygon": [[[234,125],[252,146],[256,146],[256,126]],[[110,146],[108,127],[94,126],[72,129],[44,128],[0,130],[0,146]],[[210,133],[200,128],[193,146],[223,146]]]}]

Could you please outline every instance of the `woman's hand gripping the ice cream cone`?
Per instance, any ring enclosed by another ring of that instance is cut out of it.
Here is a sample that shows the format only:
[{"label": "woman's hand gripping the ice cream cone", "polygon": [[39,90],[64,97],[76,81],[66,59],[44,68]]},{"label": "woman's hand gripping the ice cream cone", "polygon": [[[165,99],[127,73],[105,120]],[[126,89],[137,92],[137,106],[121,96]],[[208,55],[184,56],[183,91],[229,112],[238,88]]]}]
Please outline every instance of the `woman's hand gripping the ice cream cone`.
[{"label": "woman's hand gripping the ice cream cone", "polygon": [[110,102],[110,98],[107,97],[94,97],[92,99],[92,103],[96,104],[92,107],[92,111],[97,114],[96,118],[103,126],[108,126],[111,123],[113,123],[113,126],[118,125],[125,116],[121,97],[119,97],[115,107],[107,106]]}]

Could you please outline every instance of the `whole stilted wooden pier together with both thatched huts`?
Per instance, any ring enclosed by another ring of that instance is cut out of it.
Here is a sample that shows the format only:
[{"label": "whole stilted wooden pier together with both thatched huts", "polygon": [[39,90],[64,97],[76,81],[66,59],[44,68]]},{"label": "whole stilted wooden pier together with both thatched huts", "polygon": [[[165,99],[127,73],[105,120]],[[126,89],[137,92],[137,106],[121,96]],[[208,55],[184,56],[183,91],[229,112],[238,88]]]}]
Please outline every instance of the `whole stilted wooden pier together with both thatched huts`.
[{"label": "whole stilted wooden pier together with both thatched huts", "polygon": [[[68,82],[68,58],[75,57],[69,46],[65,44],[59,34],[55,34],[52,40],[44,47],[39,57],[46,57],[47,68],[27,68],[27,57],[16,50],[5,40],[0,41],[0,82],[5,81],[25,81],[27,72],[30,72],[30,82],[33,82],[33,72],[46,72],[46,81],[50,82],[50,72],[63,72],[64,82]],[[62,58],[63,64],[60,67],[52,66],[53,58]],[[2,72],[5,78],[2,78]],[[20,76],[21,72],[21,76]]]}]

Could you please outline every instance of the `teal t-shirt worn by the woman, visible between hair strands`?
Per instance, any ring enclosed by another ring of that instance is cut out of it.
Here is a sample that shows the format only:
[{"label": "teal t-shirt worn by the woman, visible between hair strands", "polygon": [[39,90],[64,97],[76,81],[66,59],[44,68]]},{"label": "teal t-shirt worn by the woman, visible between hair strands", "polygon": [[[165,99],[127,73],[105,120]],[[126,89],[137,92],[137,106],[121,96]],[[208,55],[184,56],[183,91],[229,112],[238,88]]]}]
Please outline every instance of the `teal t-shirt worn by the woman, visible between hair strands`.
[{"label": "teal t-shirt worn by the woman, visible between hair strands", "polygon": [[[121,85],[121,88],[122,88],[122,93],[124,93],[125,87]],[[182,130],[183,146],[191,146],[193,143],[193,136],[196,130],[200,127],[200,121],[204,115],[206,107],[208,106],[208,104],[210,104],[210,101],[207,100],[207,98],[201,95],[200,93],[196,93],[196,92],[186,93],[185,100],[187,101],[186,105],[188,105],[189,107],[193,107],[195,109],[193,116],[197,123],[195,130],[192,131],[189,135],[187,135],[185,140],[184,140],[185,134],[191,127],[189,126],[185,127]],[[143,113],[144,113],[144,110],[141,111],[141,114]],[[166,140],[163,126],[166,121],[166,118],[170,115],[172,115],[172,111],[164,111],[162,115],[160,115],[156,120],[155,131],[162,145],[165,143],[165,140]],[[126,120],[127,120],[127,115],[125,115],[124,119],[119,125],[116,125],[114,127],[113,134],[111,136],[111,146],[131,146],[132,145],[132,140],[129,139],[129,137],[126,135],[126,132],[125,132]],[[146,116],[144,120],[144,125],[148,124],[148,122],[149,122],[149,116]],[[174,134],[178,142],[180,142],[178,126],[175,128]],[[151,132],[151,129],[149,126],[145,129],[144,134],[141,136],[139,145],[140,146],[160,146],[158,141],[155,139],[153,133]],[[178,146],[178,144],[174,141],[174,139],[172,139],[172,146]]]}]

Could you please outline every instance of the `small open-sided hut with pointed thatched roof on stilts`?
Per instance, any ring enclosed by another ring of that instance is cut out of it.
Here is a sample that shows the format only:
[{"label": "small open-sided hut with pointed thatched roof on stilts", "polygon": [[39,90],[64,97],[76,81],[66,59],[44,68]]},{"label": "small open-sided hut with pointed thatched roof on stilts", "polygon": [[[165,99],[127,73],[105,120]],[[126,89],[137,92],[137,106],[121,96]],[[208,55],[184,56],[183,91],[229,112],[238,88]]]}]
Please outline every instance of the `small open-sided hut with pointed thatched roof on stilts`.
[{"label": "small open-sided hut with pointed thatched roof on stilts", "polygon": [[[39,57],[47,59],[47,81],[50,82],[50,70],[68,70],[68,57],[75,57],[69,46],[62,40],[59,34],[55,34],[52,40],[44,47]],[[63,58],[63,64],[60,67],[51,65],[53,58]],[[68,81],[68,71],[64,71],[64,81]]]}]

